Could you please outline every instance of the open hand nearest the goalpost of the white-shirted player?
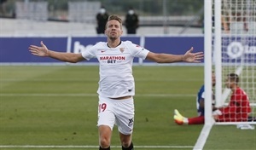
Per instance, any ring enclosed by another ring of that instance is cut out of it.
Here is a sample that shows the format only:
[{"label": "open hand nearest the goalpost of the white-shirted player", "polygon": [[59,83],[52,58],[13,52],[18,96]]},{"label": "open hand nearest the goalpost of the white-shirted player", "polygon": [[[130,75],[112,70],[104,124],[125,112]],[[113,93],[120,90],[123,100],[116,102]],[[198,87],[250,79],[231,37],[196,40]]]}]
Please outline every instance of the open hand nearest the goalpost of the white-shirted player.
[{"label": "open hand nearest the goalpost of the white-shirted player", "polygon": [[184,55],[183,55],[183,61],[185,62],[201,62],[201,60],[204,58],[203,52],[197,52],[192,53],[193,47],[189,49]]}]

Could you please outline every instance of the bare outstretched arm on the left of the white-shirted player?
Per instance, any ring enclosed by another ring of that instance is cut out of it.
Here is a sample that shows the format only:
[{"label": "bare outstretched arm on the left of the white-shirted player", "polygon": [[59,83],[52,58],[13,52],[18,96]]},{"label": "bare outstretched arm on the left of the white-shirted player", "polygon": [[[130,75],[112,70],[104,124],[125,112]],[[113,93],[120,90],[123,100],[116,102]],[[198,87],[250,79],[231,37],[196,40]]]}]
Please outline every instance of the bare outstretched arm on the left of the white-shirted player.
[{"label": "bare outstretched arm on the left of the white-shirted player", "polygon": [[81,54],[61,53],[61,52],[55,52],[53,50],[49,50],[46,47],[46,45],[44,45],[43,41],[41,41],[41,46],[30,45],[28,49],[32,53],[32,55],[38,55],[41,57],[51,57],[59,61],[75,63],[75,62],[85,60]]}]

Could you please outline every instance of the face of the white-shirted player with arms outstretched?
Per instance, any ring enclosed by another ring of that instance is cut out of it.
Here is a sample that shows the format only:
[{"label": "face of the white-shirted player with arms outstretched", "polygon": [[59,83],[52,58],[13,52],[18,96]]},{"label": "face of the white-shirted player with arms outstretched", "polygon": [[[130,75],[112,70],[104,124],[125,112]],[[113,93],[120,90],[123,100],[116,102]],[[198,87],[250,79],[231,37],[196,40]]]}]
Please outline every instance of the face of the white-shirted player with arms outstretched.
[{"label": "face of the white-shirted player with arms outstretched", "polygon": [[105,34],[110,38],[111,40],[115,40],[119,38],[122,35],[122,26],[120,26],[120,23],[118,20],[109,20],[106,26]]}]

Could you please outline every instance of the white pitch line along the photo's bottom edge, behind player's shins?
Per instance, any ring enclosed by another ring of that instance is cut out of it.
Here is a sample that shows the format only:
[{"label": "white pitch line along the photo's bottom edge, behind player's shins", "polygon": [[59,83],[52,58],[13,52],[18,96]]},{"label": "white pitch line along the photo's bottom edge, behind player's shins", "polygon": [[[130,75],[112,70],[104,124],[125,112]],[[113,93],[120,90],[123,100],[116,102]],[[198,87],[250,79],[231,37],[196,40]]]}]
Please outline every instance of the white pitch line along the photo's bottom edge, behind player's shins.
[{"label": "white pitch line along the photo's bottom edge, behind player's shins", "polygon": [[[3,145],[0,148],[98,148],[99,146],[32,146],[32,145]],[[111,146],[119,148],[120,146]],[[193,148],[193,146],[134,146],[136,148]]]}]

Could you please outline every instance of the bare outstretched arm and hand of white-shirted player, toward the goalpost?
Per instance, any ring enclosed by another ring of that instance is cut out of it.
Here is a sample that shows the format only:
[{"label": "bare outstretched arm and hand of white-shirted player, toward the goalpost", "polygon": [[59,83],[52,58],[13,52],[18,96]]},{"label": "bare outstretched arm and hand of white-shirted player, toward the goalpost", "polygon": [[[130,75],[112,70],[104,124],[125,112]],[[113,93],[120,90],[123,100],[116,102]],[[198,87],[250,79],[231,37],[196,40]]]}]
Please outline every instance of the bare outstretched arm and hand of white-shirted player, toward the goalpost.
[{"label": "bare outstretched arm and hand of white-shirted player, toward the goalpost", "polygon": [[204,58],[203,52],[192,53],[193,47],[189,49],[184,55],[169,55],[156,54],[149,52],[147,59],[158,63],[172,63],[172,62],[201,62]]}]

